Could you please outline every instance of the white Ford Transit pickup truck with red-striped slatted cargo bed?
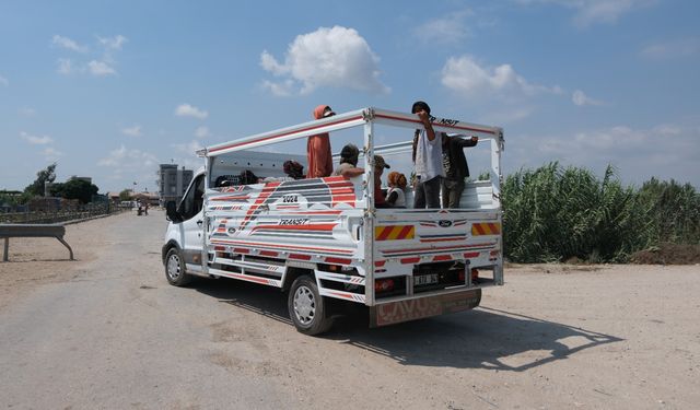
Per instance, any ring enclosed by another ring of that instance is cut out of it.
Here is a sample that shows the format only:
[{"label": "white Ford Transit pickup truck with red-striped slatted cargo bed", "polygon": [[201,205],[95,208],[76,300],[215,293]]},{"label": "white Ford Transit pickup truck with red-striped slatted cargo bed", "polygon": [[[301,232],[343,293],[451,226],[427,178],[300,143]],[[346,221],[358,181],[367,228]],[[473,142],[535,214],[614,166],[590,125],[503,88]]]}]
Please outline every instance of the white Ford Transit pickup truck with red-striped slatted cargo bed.
[{"label": "white Ford Transit pickup truck with red-striped slatted cargo bed", "polygon": [[[374,155],[406,152],[410,161],[410,142],[375,147],[376,129],[412,136],[422,128],[412,114],[363,108],[199,151],[203,168],[179,206],[166,206],[167,281],[182,286],[199,276],[280,288],[307,335],[327,331],[343,302],[368,306],[371,326],[478,306],[481,289],[503,284],[503,131],[431,121],[436,132],[490,144],[490,180],[467,183],[459,209],[374,206]],[[335,145],[343,130],[358,136],[363,175],[284,178],[283,162],[304,164],[305,155],[249,151],[323,132]]]}]

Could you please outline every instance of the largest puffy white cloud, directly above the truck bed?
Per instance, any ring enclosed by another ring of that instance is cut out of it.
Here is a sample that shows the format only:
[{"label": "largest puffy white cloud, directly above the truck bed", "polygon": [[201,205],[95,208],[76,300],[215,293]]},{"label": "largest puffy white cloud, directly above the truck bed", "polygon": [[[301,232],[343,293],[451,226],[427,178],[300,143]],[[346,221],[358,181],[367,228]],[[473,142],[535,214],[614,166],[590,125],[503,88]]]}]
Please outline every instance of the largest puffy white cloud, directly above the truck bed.
[{"label": "largest puffy white cloud, directly above the truck bed", "polygon": [[380,81],[380,58],[368,42],[353,28],[320,27],[302,34],[289,45],[284,62],[280,63],[267,50],[260,55],[260,66],[282,82],[266,81],[264,87],[276,95],[292,93],[290,84],[300,84],[301,94],[323,86],[347,87],[374,94],[388,93]]}]

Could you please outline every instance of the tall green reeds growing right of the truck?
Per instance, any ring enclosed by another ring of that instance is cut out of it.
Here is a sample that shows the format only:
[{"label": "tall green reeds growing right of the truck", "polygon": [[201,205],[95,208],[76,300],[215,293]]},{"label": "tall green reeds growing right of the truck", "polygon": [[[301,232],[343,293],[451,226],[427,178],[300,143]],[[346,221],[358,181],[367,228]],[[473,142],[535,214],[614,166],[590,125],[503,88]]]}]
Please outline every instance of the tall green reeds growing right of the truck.
[{"label": "tall green reeds growing right of the truck", "polygon": [[505,179],[502,202],[512,261],[626,261],[663,241],[700,241],[692,186],[652,179],[637,190],[622,186],[611,166],[602,178],[557,162],[521,169]]}]

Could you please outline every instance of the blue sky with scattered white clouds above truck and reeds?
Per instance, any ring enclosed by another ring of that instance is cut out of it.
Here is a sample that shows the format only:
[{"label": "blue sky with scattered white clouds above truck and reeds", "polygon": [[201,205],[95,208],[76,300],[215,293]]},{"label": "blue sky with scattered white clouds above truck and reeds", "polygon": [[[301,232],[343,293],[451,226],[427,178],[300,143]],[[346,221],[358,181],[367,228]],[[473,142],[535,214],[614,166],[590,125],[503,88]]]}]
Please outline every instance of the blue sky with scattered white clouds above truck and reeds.
[{"label": "blue sky with scattered white clouds above truck and reeds", "polygon": [[58,181],[155,190],[158,164],[197,167],[196,149],[318,104],[416,99],[503,127],[506,173],[612,164],[700,187],[698,16],[691,0],[2,1],[0,189],[57,162]]}]

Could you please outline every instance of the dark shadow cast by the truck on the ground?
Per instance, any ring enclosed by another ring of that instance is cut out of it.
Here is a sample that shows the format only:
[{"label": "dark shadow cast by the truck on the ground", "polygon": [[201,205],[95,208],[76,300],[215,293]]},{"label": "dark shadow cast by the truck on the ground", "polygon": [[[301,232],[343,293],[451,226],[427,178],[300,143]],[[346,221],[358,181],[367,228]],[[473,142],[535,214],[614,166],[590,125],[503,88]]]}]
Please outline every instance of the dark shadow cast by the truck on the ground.
[{"label": "dark shadow cast by the truck on the ground", "polygon": [[[207,283],[197,291],[290,326],[285,297],[249,283]],[[230,281],[224,281],[230,282]],[[369,327],[369,309],[353,305],[320,338],[380,354],[405,365],[524,372],[586,349],[623,339],[517,313],[478,307],[469,312]]]}]

